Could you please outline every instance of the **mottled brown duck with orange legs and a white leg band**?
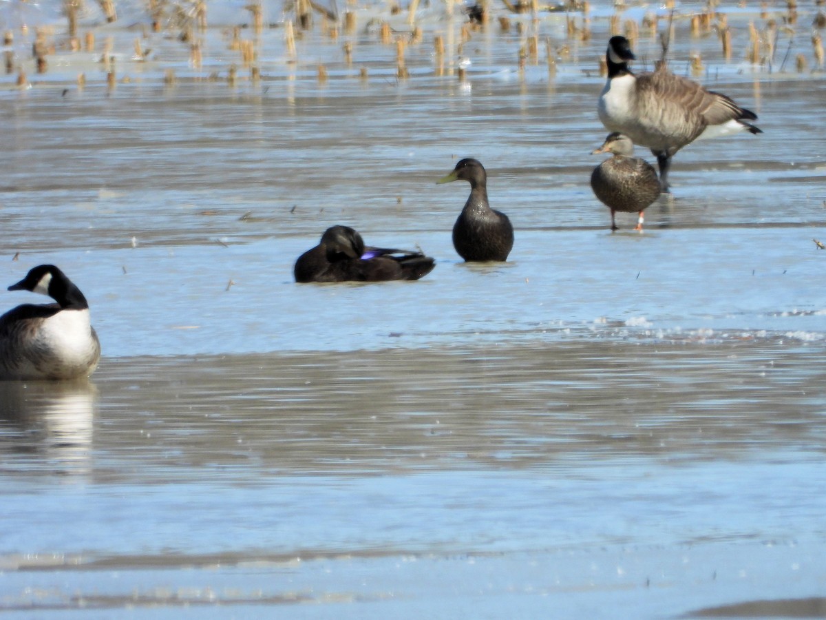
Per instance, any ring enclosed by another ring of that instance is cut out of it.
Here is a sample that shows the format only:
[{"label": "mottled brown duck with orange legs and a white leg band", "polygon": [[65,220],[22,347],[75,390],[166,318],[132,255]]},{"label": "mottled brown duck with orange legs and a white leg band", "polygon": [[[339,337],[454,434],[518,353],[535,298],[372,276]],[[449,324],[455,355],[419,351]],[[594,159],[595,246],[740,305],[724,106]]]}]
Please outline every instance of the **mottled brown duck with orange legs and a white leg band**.
[{"label": "mottled brown duck with orange legs and a white leg band", "polygon": [[615,212],[639,213],[635,231],[643,230],[643,211],[660,195],[657,171],[646,160],[634,155],[634,142],[621,133],[611,133],[593,151],[614,156],[596,166],[591,173],[591,188],[596,198],[611,210],[611,230],[617,230]]}]

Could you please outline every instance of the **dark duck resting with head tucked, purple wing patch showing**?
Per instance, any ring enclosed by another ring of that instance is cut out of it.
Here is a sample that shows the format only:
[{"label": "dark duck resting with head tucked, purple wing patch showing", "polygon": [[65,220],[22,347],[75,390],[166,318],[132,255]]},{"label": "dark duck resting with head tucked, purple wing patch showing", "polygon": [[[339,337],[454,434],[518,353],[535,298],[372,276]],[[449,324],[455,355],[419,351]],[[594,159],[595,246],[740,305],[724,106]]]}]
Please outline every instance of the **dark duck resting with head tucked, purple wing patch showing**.
[{"label": "dark duck resting with head tucked, purple wing patch showing", "polygon": [[296,282],[380,282],[417,280],[433,268],[434,260],[421,252],[365,247],[357,231],[334,226],[298,257],[293,274]]}]

